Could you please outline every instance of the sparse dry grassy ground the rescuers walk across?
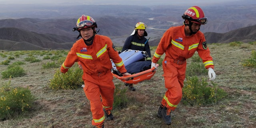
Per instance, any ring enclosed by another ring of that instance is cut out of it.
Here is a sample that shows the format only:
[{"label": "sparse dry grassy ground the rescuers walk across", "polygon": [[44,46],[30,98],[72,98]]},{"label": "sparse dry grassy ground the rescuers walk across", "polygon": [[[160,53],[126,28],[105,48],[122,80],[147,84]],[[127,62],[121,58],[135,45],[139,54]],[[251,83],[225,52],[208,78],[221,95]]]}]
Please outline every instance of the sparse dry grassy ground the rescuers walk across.
[{"label": "sparse dry grassy ground the rescuers walk across", "polygon": [[[157,110],[164,96],[162,66],[151,80],[135,84],[135,92],[127,91],[126,108],[112,111],[114,120],[106,121],[106,128],[255,128],[256,127],[256,68],[242,66],[242,62],[256,50],[256,44],[209,44],[214,60],[216,79],[214,82],[228,97],[208,106],[187,106],[180,102],[171,113],[172,124],[166,126],[157,117]],[[120,48],[118,48],[120,50]],[[155,47],[151,54],[154,54]],[[35,56],[40,62],[26,62],[22,68],[26,75],[12,78],[11,86],[29,87],[36,96],[36,107],[13,120],[0,122],[0,128],[92,128],[90,102],[82,87],[76,90],[51,90],[49,80],[58,69],[43,69],[42,64],[57,60],[43,60],[45,56],[66,56],[68,50],[48,51],[0,51],[0,62],[14,56],[10,64]],[[53,57],[54,58],[54,57]],[[191,59],[188,59],[188,64]],[[0,72],[7,65],[0,65]],[[2,79],[0,85],[9,79]],[[199,76],[207,78],[208,75]],[[127,88],[114,78],[116,88]]]}]

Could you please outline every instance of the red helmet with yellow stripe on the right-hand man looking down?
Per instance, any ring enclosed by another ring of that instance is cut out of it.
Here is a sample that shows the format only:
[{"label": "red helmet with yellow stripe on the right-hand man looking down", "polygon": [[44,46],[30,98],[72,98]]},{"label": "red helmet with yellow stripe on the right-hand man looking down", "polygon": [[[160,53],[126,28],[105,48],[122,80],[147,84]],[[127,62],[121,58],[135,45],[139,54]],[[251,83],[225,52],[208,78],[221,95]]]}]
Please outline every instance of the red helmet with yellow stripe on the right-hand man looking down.
[{"label": "red helmet with yellow stripe on the right-hand man looking down", "polygon": [[207,23],[207,17],[204,17],[203,10],[198,6],[192,6],[188,8],[184,15],[182,16],[183,19],[190,20],[192,22],[195,22],[196,24],[206,24]]}]

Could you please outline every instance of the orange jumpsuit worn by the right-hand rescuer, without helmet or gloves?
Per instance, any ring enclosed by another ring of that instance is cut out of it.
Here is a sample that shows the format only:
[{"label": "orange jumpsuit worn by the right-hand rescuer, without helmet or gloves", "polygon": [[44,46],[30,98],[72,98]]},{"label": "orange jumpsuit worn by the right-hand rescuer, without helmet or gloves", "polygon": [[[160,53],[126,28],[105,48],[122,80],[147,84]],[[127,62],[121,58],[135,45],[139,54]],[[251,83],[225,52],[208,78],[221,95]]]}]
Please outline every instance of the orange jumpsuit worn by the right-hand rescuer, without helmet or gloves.
[{"label": "orange jumpsuit worn by the right-hand rescuer, without helmet or gloves", "polygon": [[156,63],[162,54],[166,54],[162,66],[167,91],[161,103],[171,110],[176,109],[182,98],[187,58],[192,57],[197,51],[205,68],[214,68],[204,34],[198,31],[191,36],[185,36],[184,30],[185,25],[166,30],[152,59],[152,62]]}]

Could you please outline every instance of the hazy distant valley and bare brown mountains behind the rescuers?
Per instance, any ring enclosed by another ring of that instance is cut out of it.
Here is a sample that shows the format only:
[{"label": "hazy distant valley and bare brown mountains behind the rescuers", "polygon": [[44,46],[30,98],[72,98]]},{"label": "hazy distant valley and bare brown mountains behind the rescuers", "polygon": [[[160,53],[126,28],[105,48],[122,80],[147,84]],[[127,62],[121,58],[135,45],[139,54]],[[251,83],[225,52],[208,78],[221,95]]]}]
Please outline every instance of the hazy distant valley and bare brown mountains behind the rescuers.
[{"label": "hazy distant valley and bare brown mountains behind the rescuers", "polygon": [[[244,1],[242,4],[230,3],[232,6],[201,6],[208,23],[200,30],[208,43],[256,40],[256,4]],[[168,28],[183,24],[181,16],[188,7],[90,5],[86,8],[64,6],[53,9],[49,6],[47,11],[44,8],[33,12],[24,9],[15,15],[4,7],[6,12],[0,12],[0,50],[70,49],[79,34],[72,32],[72,28],[82,14],[92,16],[98,24],[98,34],[109,36],[115,46],[122,46],[135,24],[144,22],[148,26],[146,38],[150,38],[151,46],[156,46]]]}]

